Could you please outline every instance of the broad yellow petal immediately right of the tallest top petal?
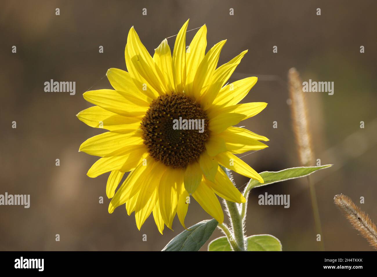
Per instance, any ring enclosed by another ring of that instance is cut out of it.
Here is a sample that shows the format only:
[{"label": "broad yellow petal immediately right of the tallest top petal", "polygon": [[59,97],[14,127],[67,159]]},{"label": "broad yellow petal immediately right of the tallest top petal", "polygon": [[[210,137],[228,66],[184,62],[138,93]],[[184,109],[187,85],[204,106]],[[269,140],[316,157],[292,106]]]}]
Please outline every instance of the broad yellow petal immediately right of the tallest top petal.
[{"label": "broad yellow petal immediately right of the tallest top petal", "polygon": [[195,78],[196,70],[198,70],[199,64],[204,58],[205,48],[207,47],[207,26],[205,24],[196,32],[192,39],[189,49],[186,52],[186,86],[185,92],[189,96],[192,94],[192,85]]}]

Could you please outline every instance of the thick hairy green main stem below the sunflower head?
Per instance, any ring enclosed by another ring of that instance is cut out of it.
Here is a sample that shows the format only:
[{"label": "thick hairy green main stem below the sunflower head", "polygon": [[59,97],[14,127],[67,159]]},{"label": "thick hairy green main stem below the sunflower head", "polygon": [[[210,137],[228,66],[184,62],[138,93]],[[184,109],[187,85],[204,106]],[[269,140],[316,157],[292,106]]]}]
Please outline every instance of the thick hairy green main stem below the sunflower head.
[{"label": "thick hairy green main stem below the sunflower head", "polygon": [[[220,167],[227,174],[230,181],[232,181],[233,178],[231,176],[230,171],[225,167],[222,167],[222,166]],[[227,210],[230,216],[230,223],[231,223],[231,228],[233,231],[233,236],[234,236],[234,239],[236,240],[236,244],[238,245],[238,249],[233,249],[233,250],[246,251],[243,218],[241,217],[237,204],[228,200],[224,200],[224,203],[227,207]]]}]

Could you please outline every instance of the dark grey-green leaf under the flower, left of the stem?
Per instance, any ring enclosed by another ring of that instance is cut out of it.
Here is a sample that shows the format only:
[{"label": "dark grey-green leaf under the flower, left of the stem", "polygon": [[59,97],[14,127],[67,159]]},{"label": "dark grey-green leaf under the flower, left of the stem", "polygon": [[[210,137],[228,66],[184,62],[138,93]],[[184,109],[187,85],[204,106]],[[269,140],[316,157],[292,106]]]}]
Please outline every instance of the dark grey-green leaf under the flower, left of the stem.
[{"label": "dark grey-green leaf under the flower, left of the stem", "polygon": [[203,220],[174,237],[162,251],[198,251],[215,231],[216,219]]}]

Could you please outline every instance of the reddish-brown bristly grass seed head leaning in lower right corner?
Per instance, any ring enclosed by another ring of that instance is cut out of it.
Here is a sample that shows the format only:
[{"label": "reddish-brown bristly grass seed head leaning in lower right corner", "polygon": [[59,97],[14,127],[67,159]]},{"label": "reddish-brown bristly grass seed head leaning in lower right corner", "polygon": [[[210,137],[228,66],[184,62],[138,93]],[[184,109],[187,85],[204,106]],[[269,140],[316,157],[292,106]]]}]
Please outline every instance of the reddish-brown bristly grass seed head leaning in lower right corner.
[{"label": "reddish-brown bristly grass seed head leaning in lower right corner", "polygon": [[351,198],[346,195],[336,195],[334,202],[340,210],[343,211],[352,226],[377,250],[377,228],[368,214],[360,210],[360,208],[352,202]]}]

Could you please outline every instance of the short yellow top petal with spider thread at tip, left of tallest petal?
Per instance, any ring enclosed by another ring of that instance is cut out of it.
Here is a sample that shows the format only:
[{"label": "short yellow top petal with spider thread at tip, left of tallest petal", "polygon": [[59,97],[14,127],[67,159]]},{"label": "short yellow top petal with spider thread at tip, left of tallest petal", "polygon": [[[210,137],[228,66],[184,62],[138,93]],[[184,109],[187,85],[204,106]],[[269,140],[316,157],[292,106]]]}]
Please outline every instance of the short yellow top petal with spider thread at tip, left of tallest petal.
[{"label": "short yellow top petal with spider thread at tip, left of tallest petal", "polygon": [[153,60],[156,65],[161,70],[165,77],[166,84],[168,86],[169,92],[173,91],[174,81],[173,81],[173,70],[172,70],[172,52],[170,51],[169,44],[165,38],[161,44],[155,49],[155,54],[153,55]]}]

